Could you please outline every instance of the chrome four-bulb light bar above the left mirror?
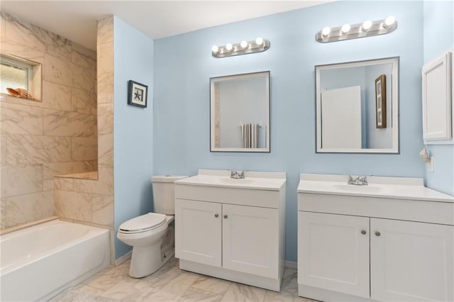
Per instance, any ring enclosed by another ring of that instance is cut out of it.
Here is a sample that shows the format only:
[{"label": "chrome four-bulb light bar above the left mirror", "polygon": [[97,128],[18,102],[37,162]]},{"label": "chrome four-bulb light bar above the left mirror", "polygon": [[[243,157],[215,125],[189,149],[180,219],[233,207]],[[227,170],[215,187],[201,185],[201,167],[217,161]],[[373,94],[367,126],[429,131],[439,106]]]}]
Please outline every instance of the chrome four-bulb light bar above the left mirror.
[{"label": "chrome four-bulb light bar above the left mirror", "polygon": [[262,52],[268,48],[270,48],[270,41],[257,38],[253,41],[241,41],[236,44],[227,43],[224,46],[214,45],[211,47],[211,55],[213,57],[232,57],[233,55]]}]

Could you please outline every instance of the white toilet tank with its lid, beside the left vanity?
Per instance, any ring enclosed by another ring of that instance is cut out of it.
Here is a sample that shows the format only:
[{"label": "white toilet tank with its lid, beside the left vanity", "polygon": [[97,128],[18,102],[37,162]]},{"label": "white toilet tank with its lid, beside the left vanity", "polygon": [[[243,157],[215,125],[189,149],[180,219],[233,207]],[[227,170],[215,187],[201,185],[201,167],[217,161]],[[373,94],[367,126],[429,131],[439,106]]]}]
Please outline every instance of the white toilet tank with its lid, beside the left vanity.
[{"label": "white toilet tank with its lid, beside the left vanity", "polygon": [[175,184],[174,181],[187,176],[156,175],[151,178],[153,182],[153,203],[155,213],[175,214]]}]

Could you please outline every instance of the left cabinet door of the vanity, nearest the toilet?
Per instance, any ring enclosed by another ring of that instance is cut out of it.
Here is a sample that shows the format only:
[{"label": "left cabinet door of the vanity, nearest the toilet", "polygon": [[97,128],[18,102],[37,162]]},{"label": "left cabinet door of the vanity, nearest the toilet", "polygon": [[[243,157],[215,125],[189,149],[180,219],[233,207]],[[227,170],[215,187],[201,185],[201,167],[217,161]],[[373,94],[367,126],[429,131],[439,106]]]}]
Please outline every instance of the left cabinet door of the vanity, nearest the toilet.
[{"label": "left cabinet door of the vanity, nearest the toilet", "polygon": [[221,203],[175,199],[175,257],[221,267]]}]

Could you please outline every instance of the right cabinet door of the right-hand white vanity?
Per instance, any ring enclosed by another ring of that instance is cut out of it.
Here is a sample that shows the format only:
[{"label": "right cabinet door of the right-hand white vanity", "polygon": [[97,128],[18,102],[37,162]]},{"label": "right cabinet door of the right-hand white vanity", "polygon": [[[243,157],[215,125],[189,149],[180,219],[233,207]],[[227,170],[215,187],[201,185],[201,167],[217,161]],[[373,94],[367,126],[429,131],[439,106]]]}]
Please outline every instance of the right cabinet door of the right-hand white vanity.
[{"label": "right cabinet door of the right-hand white vanity", "polygon": [[370,219],[371,298],[453,301],[454,227]]}]

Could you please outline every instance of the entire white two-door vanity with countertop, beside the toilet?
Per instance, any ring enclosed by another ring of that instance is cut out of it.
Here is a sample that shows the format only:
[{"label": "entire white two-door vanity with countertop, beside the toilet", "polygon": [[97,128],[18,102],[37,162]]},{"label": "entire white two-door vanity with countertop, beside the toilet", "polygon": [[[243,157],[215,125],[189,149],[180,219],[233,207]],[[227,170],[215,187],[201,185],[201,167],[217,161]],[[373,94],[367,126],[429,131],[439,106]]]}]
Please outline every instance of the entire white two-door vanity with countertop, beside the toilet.
[{"label": "entire white two-door vanity with countertop, beside the toilet", "polygon": [[285,257],[281,172],[200,169],[175,181],[175,257],[179,268],[279,291]]}]

